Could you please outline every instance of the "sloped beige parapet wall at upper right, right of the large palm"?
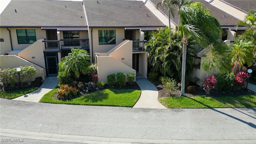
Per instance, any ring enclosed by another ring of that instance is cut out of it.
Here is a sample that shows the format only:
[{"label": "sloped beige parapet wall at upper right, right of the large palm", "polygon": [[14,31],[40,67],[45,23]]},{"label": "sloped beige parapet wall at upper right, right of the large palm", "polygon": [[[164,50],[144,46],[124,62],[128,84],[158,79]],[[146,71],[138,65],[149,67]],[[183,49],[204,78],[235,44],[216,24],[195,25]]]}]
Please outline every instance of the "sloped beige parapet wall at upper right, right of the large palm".
[{"label": "sloped beige parapet wall at upper right, right of the large palm", "polygon": [[232,6],[229,6],[228,4],[225,4],[224,2],[221,2],[220,0],[213,0],[210,2],[211,5],[215,6],[216,8],[219,8],[220,10],[223,10],[224,12],[240,19],[244,20],[246,13],[233,8]]}]

